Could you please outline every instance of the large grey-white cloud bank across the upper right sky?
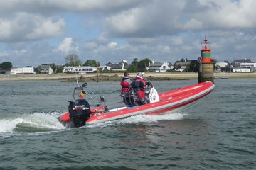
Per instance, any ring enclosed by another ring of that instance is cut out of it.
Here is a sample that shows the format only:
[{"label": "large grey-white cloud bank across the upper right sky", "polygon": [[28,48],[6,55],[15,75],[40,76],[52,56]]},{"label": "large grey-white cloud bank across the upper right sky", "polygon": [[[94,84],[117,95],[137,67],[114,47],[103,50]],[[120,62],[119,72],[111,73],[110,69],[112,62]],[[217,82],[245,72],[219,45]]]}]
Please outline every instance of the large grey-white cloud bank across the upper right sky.
[{"label": "large grey-white cloud bank across the upper right sky", "polygon": [[106,18],[117,37],[174,35],[184,30],[256,28],[256,1],[150,1]]}]

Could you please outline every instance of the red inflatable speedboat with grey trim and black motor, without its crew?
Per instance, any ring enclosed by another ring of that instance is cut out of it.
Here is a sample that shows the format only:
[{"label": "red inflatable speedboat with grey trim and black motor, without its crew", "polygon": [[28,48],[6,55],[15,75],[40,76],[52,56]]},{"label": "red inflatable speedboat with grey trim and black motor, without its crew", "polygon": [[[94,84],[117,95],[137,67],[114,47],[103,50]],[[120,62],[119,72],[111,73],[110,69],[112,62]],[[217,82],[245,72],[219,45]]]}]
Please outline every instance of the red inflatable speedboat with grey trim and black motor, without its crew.
[{"label": "red inflatable speedboat with grey trim and black motor, without its crew", "polygon": [[[87,84],[85,83],[80,87],[76,87],[74,89],[74,94],[75,90],[82,91],[82,94],[88,94],[87,96],[93,101],[91,95],[92,91],[88,90],[86,86]],[[182,111],[189,108],[189,106],[195,101],[198,101],[198,99],[210,94],[214,87],[215,85],[212,82],[206,81],[200,84],[158,94],[156,89],[151,86],[146,90],[149,103],[144,105],[137,105],[136,98],[132,96],[132,100],[134,100],[132,105],[126,105],[125,102],[120,102],[114,106],[106,106],[105,98],[101,96],[98,99],[100,104],[95,106],[94,103],[89,104],[87,102],[89,100],[75,100],[74,95],[74,100],[69,101],[68,113],[60,116],[60,120],[63,125],[80,127],[83,125],[127,118],[132,115],[161,114]]]}]

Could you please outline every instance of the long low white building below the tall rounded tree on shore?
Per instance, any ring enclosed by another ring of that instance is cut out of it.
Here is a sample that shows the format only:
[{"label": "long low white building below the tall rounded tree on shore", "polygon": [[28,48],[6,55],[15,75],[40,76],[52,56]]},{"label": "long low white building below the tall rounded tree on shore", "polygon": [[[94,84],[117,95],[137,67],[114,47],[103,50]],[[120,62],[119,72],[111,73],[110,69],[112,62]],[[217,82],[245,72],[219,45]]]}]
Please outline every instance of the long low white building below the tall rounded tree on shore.
[{"label": "long low white building below the tall rounded tree on shore", "polygon": [[92,73],[97,71],[97,67],[90,67],[90,66],[65,66],[63,68],[63,73],[71,72],[71,73],[79,73],[79,74],[86,74]]}]

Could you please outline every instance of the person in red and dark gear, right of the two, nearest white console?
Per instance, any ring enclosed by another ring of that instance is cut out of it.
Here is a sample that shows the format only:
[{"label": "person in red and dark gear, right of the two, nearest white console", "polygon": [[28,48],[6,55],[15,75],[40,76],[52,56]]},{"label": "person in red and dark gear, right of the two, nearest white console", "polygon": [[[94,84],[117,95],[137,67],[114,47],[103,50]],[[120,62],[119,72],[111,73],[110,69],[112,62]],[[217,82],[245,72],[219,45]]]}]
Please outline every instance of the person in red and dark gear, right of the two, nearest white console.
[{"label": "person in red and dark gear, right of the two, nearest white console", "polygon": [[134,81],[132,81],[130,87],[134,89],[134,93],[137,95],[137,98],[139,99],[137,103],[139,105],[143,105],[147,103],[146,95],[144,92],[144,89],[146,87],[146,81],[144,80],[143,73],[139,72],[137,76],[134,78]]}]

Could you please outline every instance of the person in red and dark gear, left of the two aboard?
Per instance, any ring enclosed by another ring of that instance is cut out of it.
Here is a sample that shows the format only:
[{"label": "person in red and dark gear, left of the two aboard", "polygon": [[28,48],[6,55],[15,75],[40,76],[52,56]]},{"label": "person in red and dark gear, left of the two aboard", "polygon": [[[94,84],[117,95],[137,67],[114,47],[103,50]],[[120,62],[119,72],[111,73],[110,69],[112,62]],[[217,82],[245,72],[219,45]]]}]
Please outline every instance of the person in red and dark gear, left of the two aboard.
[{"label": "person in red and dark gear, left of the two aboard", "polygon": [[129,78],[129,72],[124,72],[124,76],[122,77],[122,80],[120,82],[120,85],[122,86],[121,89],[121,96],[122,101],[124,101],[127,105],[132,105],[129,98],[129,85],[131,84],[131,79]]}]

